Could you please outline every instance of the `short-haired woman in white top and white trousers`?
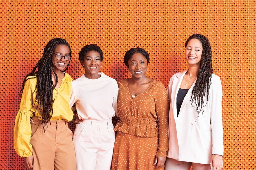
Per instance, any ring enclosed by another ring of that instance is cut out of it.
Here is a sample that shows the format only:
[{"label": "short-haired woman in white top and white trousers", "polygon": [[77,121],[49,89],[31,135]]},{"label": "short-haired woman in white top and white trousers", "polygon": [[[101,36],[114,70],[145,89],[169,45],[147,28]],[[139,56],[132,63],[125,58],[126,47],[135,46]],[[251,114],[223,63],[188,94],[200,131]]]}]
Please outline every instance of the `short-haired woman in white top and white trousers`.
[{"label": "short-haired woman in white top and white trousers", "polygon": [[85,74],[72,81],[70,99],[81,120],[73,136],[77,170],[107,170],[115,142],[112,117],[117,113],[118,85],[115,79],[99,73],[103,61],[99,46],[84,46],[79,60]]}]

